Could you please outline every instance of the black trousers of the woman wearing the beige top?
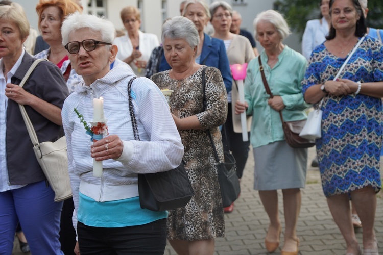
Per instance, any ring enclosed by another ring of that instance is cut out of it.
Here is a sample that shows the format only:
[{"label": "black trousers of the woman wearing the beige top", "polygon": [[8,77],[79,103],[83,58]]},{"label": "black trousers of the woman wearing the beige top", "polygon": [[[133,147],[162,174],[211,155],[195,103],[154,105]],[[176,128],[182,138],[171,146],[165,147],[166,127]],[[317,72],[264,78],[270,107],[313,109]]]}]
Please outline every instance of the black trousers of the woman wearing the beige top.
[{"label": "black trousers of the woman wearing the beige top", "polygon": [[[229,103],[227,119],[224,124],[225,129],[221,130],[222,143],[224,145],[224,148],[229,148],[229,150],[231,150],[235,158],[238,178],[242,178],[246,161],[249,156],[250,132],[248,132],[249,141],[247,142],[242,141],[242,133],[234,133],[231,106],[232,106],[231,103]],[[225,132],[226,132],[226,136],[225,136]]]}]

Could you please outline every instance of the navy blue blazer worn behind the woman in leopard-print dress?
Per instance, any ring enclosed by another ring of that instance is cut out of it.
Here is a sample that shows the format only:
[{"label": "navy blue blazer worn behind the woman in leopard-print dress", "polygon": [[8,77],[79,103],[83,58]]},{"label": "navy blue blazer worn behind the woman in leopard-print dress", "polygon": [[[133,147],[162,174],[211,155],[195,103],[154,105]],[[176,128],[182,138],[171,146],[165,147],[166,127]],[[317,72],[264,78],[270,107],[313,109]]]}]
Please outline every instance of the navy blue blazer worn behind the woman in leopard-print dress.
[{"label": "navy blue blazer worn behind the woman in leopard-print dress", "polygon": [[[226,87],[226,92],[231,91],[232,78],[229,59],[226,55],[224,42],[220,39],[212,38],[205,33],[205,39],[203,41],[200,59],[201,65],[213,66],[221,71],[221,75]],[[171,69],[171,67],[166,62],[164,53],[162,53],[161,64],[158,72],[166,71],[169,69]]]}]

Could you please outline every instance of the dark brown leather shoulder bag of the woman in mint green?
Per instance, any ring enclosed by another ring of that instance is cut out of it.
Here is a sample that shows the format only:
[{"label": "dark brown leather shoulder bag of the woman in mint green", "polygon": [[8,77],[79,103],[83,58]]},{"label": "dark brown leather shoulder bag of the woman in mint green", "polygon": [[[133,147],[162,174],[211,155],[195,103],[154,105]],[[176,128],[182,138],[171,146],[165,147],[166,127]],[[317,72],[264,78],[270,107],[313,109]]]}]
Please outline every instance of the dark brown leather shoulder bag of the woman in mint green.
[{"label": "dark brown leather shoulder bag of the woman in mint green", "polygon": [[[262,66],[262,61],[260,60],[260,56],[258,56],[258,62],[259,62],[259,71],[262,76],[262,82],[264,82],[266,93],[270,95],[270,98],[273,98],[274,95],[273,93],[271,93],[269,84],[267,83],[264,67]],[[299,136],[299,133],[302,131],[303,126],[306,123],[306,120],[283,121],[283,116],[281,111],[279,111],[279,116],[282,122],[284,137],[286,139],[286,142],[290,145],[290,147],[309,148],[315,145],[315,139],[309,140]]]}]

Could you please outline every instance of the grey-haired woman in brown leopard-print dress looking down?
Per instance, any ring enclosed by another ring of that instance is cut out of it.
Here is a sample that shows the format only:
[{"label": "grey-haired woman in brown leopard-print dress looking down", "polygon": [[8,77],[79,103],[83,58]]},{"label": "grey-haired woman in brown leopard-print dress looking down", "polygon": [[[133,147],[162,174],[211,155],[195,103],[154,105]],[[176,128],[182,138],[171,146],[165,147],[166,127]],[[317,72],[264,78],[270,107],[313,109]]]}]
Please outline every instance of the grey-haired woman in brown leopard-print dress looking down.
[{"label": "grey-haired woman in brown leopard-print dress looking down", "polygon": [[178,254],[213,254],[214,239],[225,233],[217,163],[208,131],[223,161],[219,126],[226,120],[227,97],[220,71],[196,63],[199,40],[189,19],[166,21],[162,42],[172,69],[151,78],[160,89],[173,90],[170,111],[185,146],[183,160],[195,192],[185,207],[169,211],[167,238]]}]

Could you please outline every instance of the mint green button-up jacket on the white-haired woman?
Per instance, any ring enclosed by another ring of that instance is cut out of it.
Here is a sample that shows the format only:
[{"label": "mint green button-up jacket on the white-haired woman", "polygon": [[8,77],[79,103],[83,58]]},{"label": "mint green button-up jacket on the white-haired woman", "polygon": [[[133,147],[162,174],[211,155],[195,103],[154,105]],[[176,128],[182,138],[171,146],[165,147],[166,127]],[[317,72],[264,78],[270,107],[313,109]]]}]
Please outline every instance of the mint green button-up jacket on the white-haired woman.
[{"label": "mint green button-up jacket on the white-haired woman", "polygon": [[[281,96],[285,105],[282,110],[283,120],[306,119],[304,110],[310,105],[303,99],[301,85],[307,67],[305,57],[285,46],[273,69],[267,64],[268,57],[265,50],[262,50],[260,58],[271,92],[273,95]],[[284,140],[279,113],[268,105],[270,96],[266,93],[262,82],[258,58],[250,61],[244,86],[245,100],[249,104],[246,114],[253,116],[250,130],[252,146],[256,148]]]}]

